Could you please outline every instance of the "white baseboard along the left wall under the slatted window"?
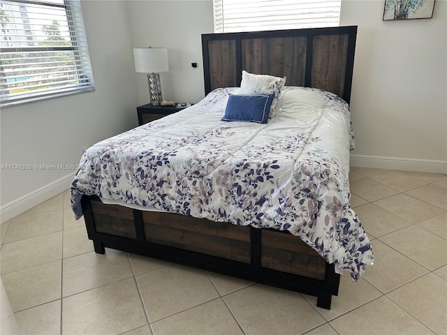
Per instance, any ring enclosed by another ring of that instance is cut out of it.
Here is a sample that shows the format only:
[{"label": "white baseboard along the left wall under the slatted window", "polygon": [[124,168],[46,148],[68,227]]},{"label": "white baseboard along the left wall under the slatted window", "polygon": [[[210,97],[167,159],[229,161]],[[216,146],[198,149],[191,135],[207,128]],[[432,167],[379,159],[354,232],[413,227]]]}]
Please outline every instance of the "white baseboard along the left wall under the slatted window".
[{"label": "white baseboard along the left wall under the slatted window", "polygon": [[42,202],[53,198],[54,196],[67,191],[73,181],[75,174],[68,174],[65,177],[57,179],[36,191],[28,193],[17,200],[13,200],[0,207],[1,223],[22,214],[24,211],[31,209]]}]

